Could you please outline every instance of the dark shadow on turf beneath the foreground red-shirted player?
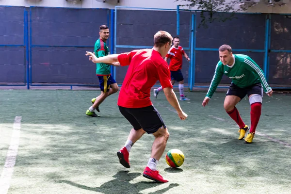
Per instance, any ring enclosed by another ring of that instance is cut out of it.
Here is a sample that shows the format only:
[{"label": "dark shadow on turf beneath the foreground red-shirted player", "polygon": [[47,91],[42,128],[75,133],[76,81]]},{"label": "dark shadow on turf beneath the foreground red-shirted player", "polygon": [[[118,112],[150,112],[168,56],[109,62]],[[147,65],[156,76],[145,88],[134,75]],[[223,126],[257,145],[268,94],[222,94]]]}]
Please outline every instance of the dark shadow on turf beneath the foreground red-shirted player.
[{"label": "dark shadow on turf beneath the foreground red-shirted player", "polygon": [[[141,173],[129,173],[129,171],[119,171],[115,175],[113,175],[113,178],[115,179],[103,183],[102,185],[100,185],[100,187],[88,187],[85,185],[74,183],[69,180],[59,180],[58,182],[66,183],[71,186],[78,187],[80,189],[95,191],[103,194],[124,194],[124,193],[140,194],[140,191],[160,185],[160,183],[157,182],[147,182],[147,181],[129,183],[129,181],[139,176],[141,176]],[[175,184],[171,183],[168,185],[168,187],[150,194],[163,194],[169,189],[177,186],[178,186],[177,183]]]}]

